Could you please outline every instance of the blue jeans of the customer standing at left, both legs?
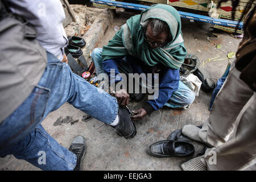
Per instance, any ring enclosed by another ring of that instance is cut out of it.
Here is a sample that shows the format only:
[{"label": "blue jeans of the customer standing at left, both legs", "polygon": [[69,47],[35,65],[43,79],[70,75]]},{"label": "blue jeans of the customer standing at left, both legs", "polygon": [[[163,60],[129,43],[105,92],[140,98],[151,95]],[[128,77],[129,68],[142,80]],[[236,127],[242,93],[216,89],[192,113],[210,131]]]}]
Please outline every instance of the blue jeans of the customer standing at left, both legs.
[{"label": "blue jeans of the customer standing at left, both legs", "polygon": [[[0,125],[0,156],[13,154],[43,170],[73,170],[76,155],[60,146],[40,122],[68,102],[110,124],[117,117],[118,103],[115,97],[72,73],[68,64],[50,53],[47,61],[43,76],[30,96]],[[43,154],[46,164],[39,162]]]}]

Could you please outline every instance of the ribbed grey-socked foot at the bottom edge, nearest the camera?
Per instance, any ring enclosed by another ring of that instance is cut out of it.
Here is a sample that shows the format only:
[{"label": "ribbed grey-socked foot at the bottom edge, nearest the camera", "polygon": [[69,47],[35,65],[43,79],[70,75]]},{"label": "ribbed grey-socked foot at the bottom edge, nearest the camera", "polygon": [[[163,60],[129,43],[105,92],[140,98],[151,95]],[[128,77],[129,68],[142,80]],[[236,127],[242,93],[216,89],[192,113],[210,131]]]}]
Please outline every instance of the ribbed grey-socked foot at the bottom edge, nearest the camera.
[{"label": "ribbed grey-socked foot at the bottom edge, nearest the camera", "polygon": [[181,164],[181,168],[183,171],[207,171],[207,166],[203,163],[204,160],[204,156],[190,159]]}]

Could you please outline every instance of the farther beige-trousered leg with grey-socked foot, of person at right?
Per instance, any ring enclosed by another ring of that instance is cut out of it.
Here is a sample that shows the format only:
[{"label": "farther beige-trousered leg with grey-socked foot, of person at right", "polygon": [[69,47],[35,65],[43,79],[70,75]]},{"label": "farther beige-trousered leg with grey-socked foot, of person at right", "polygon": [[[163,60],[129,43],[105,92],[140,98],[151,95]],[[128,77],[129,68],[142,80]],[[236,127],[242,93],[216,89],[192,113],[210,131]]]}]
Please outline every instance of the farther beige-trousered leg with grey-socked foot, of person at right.
[{"label": "farther beige-trousered leg with grey-socked foot, of person at right", "polygon": [[229,76],[213,103],[207,122],[201,130],[193,125],[185,125],[182,129],[184,135],[214,147],[228,141],[234,131],[237,115],[253,95],[253,90],[239,77],[240,72],[233,63]]}]

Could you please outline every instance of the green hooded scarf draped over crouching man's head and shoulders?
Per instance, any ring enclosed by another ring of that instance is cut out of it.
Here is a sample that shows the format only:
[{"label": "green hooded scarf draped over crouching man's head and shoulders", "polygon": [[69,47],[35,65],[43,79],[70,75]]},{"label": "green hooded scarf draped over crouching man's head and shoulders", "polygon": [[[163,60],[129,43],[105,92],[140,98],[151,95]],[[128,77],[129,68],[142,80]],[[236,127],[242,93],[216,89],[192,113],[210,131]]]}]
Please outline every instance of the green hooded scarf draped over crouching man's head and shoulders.
[{"label": "green hooded scarf draped over crouching man's head and shoulders", "polygon": [[[147,19],[163,20],[170,27],[172,40],[162,48],[151,48],[144,40]],[[116,32],[113,39],[102,49],[103,60],[131,55],[143,61],[146,65],[154,66],[162,63],[173,69],[180,69],[187,55],[184,47],[180,15],[170,5],[157,4],[142,11],[141,15],[132,16]]]}]

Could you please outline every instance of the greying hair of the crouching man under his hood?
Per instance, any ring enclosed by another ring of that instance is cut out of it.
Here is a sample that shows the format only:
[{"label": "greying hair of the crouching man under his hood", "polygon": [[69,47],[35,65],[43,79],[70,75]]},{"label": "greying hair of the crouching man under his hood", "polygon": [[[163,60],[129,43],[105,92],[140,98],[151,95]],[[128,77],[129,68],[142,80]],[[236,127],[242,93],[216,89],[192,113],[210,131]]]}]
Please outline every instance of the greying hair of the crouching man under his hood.
[{"label": "greying hair of the crouching man under his hood", "polygon": [[168,24],[160,19],[149,18],[147,23],[150,25],[152,32],[155,35],[158,35],[162,32],[168,32],[168,34],[170,34],[170,28]]}]

